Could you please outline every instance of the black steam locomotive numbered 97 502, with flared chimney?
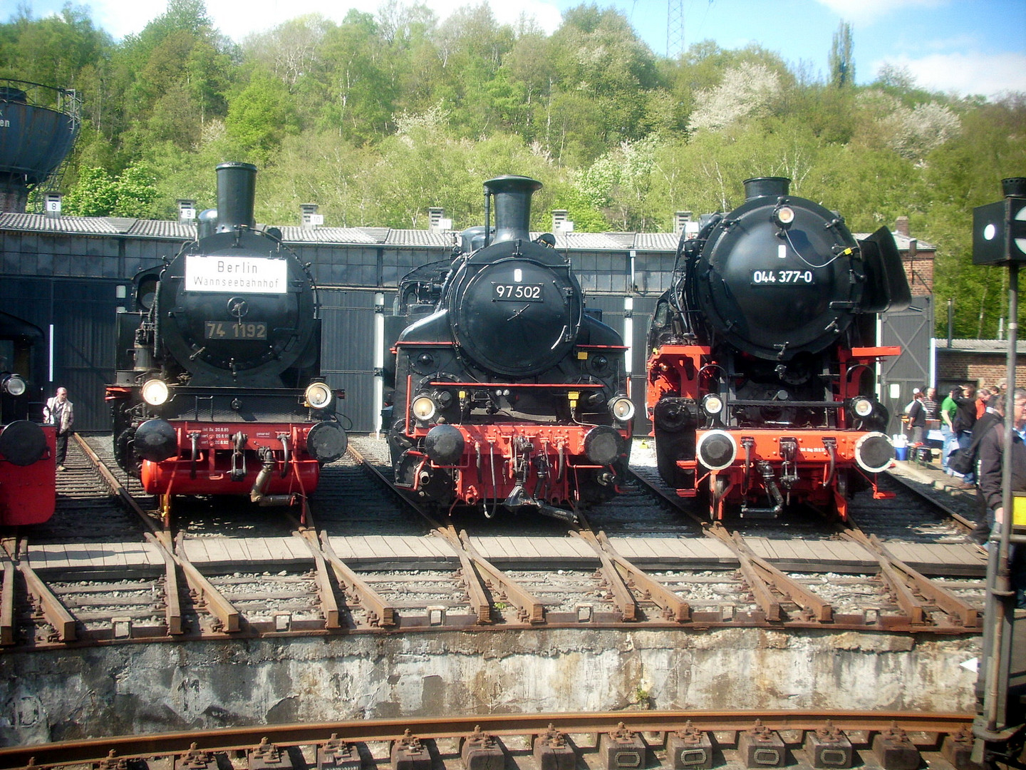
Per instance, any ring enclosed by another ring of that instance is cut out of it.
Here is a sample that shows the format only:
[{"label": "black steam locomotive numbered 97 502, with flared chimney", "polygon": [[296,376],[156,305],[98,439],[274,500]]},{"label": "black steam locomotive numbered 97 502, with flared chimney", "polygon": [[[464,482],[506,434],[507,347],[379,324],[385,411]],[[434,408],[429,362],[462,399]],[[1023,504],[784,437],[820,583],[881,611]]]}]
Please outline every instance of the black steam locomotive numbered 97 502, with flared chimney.
[{"label": "black steam locomotive numbered 97 502, with flared chimney", "polygon": [[[634,406],[620,335],[568,258],[528,230],[541,183],[484,183],[485,225],[400,281],[388,439],[395,484],[440,506],[575,521],[616,495]],[[490,206],[495,204],[495,229]]]}]

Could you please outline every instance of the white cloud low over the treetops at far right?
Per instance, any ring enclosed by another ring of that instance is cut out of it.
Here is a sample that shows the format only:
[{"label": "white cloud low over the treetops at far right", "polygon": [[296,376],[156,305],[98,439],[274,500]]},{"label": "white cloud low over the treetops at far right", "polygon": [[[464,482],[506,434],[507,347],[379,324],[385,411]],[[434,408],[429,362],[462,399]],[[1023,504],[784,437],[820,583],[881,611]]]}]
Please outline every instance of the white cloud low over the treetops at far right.
[{"label": "white cloud low over the treetops at far right", "polygon": [[994,97],[1026,92],[1026,53],[932,53],[921,59],[887,56],[873,65],[905,67],[917,85],[943,93]]}]

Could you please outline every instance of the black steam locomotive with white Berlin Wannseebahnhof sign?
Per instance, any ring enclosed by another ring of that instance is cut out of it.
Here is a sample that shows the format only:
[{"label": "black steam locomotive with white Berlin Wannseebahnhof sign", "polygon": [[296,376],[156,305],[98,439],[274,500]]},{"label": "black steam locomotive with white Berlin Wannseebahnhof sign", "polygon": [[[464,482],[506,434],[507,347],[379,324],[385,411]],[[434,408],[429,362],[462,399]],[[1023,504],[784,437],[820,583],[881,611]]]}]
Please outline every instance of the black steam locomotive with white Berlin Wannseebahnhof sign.
[{"label": "black steam locomotive with white Berlin Wannseebahnhof sign", "polygon": [[341,457],[341,392],[320,377],[313,278],[253,221],[256,167],[222,163],[198,237],[133,281],[107,387],[118,464],[170,514],[174,495],[303,504]]}]

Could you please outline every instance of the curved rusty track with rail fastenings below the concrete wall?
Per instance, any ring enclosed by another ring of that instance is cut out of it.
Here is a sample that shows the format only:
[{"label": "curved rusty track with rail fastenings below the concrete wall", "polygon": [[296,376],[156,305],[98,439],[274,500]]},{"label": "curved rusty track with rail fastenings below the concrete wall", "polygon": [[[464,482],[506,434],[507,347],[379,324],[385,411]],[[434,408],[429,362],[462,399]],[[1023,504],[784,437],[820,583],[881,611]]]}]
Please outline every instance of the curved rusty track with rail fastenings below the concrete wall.
[{"label": "curved rusty track with rail fastenings below the concrete wall", "polygon": [[[634,711],[357,721],[131,735],[0,748],[0,768],[130,762],[183,768],[969,768],[972,716]],[[235,759],[235,763],[233,763]],[[825,760],[825,762],[824,762]]]}]

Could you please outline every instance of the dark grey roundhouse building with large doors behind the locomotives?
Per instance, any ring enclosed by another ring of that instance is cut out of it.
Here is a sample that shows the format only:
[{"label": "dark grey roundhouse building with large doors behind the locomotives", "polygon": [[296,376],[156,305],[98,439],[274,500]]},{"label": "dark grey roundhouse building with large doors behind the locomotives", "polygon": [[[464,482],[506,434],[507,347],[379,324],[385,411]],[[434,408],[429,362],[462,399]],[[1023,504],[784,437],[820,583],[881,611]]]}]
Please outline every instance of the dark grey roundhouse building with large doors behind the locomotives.
[{"label": "dark grey roundhouse building with large doors behind the locomotives", "polygon": [[[189,203],[184,201],[182,210],[194,211]],[[332,387],[346,390],[342,412],[352,429],[370,432],[380,427],[381,409],[374,397],[374,315],[391,312],[397,282],[408,270],[446,259],[458,233],[437,225],[427,230],[318,226],[312,210],[304,206],[304,225],[281,227],[282,238],[311,263],[320,290],[322,371]],[[440,220],[439,210],[431,209],[433,223]],[[669,285],[680,229],[697,223],[678,213],[676,233],[577,233],[561,227],[565,213],[553,215],[556,248],[569,255],[588,306],[601,310],[602,319],[630,341],[635,430],[646,433],[645,334],[656,300]],[[130,309],[132,276],[173,257],[195,233],[186,218],[0,214],[0,307],[47,334],[46,371],[33,375],[68,387],[79,430],[110,428],[104,385],[114,374],[114,319]],[[905,391],[926,381],[933,369],[932,281],[925,280],[933,275],[933,247],[907,231],[895,236],[919,312],[892,313],[880,325],[881,344],[908,350],[880,373],[880,392],[893,413]]]}]

